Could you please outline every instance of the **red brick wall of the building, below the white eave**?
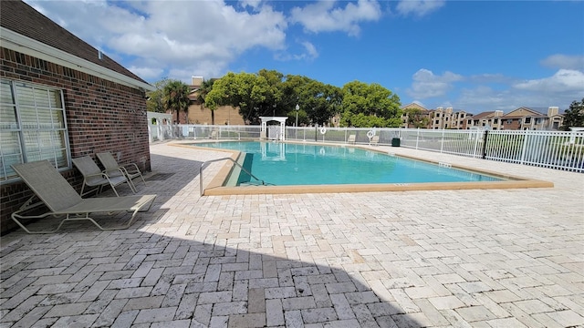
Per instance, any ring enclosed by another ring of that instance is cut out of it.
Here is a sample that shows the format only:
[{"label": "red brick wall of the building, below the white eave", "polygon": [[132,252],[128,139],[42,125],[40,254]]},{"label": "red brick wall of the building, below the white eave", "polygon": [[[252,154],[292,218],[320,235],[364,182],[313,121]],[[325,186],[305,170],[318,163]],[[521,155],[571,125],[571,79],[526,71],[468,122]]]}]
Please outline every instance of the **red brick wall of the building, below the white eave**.
[{"label": "red brick wall of the building, below the white eave", "polygon": [[[151,169],[146,99],[141,90],[3,47],[0,61],[2,78],[63,90],[72,158],[96,159],[96,153],[110,151],[114,157],[120,155],[120,163],[135,162],[142,171]],[[64,175],[80,190],[83,179],[76,169]],[[10,214],[31,195],[22,182],[0,185],[2,232],[16,227]]]}]

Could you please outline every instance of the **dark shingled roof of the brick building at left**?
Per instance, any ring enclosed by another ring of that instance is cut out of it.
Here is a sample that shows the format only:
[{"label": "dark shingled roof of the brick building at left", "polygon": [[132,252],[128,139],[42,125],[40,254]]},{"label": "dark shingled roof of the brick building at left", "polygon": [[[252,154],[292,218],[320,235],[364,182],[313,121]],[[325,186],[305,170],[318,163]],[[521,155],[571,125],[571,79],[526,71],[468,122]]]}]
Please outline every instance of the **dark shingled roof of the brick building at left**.
[{"label": "dark shingled roof of the brick building at left", "polygon": [[42,15],[20,0],[2,0],[0,2],[0,26],[22,36],[35,39],[47,46],[65,51],[70,55],[88,60],[100,67],[110,69],[143,83],[148,83],[108,56],[104,55],[102,59],[99,59],[98,49],[74,36],[68,30],[47,18],[47,16]]}]

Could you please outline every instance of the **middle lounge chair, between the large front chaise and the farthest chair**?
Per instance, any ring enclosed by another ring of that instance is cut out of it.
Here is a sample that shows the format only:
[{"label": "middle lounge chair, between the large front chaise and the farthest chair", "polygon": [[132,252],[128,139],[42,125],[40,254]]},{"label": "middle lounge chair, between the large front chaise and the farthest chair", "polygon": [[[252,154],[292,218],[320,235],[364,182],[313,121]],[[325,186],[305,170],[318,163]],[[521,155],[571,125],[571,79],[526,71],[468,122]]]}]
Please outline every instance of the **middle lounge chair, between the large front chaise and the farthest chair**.
[{"label": "middle lounge chair, between the large front chaise and the farthest chair", "polygon": [[[116,196],[120,196],[120,195],[118,195],[118,191],[116,190],[116,186],[119,186],[122,183],[128,182],[128,179],[126,179],[126,176],[124,176],[121,171],[120,171],[120,175],[110,177],[108,174],[101,171],[101,169],[99,169],[98,164],[96,164],[93,161],[93,159],[91,159],[89,156],[84,156],[81,158],[72,159],[72,161],[73,161],[73,165],[75,165],[75,167],[83,175],[83,186],[81,187],[81,197],[89,194],[90,192],[92,192],[94,190],[97,190],[97,193],[99,194],[101,192],[101,190],[103,189],[103,186],[107,186],[107,185],[111,186],[111,189],[113,190],[113,192],[116,193]],[[128,185],[130,186],[130,190],[133,193],[136,193],[136,190],[134,190],[134,185],[131,182],[128,182]],[[87,192],[83,192],[83,190],[85,190],[85,186],[88,186],[89,188],[91,188],[91,187],[94,187],[94,188],[87,191]]]}]

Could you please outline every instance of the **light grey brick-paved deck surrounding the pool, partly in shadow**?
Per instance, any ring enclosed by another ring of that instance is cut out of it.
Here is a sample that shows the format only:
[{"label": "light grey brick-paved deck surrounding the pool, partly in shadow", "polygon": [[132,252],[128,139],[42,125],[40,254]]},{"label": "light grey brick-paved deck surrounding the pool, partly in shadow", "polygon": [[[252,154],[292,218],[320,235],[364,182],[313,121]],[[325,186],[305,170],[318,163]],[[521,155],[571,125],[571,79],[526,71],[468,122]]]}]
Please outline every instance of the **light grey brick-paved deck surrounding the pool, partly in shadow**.
[{"label": "light grey brick-paved deck surrounding the pool, partly in shadow", "polygon": [[2,236],[0,327],[584,326],[584,174],[374,148],[554,187],[201,197],[225,154],[152,144],[130,229]]}]

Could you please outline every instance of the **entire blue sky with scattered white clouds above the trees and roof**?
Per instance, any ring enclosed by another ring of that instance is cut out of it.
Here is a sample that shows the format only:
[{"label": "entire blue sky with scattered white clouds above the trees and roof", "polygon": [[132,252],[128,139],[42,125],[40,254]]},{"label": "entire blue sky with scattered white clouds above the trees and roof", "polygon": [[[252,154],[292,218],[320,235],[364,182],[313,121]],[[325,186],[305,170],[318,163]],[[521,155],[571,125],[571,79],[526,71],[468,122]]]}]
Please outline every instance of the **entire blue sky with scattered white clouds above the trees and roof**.
[{"label": "entire blue sky with scattered white clouds above the trees and roof", "polygon": [[268,69],[474,114],[584,99],[584,1],[26,3],[151,84]]}]

